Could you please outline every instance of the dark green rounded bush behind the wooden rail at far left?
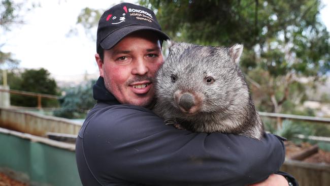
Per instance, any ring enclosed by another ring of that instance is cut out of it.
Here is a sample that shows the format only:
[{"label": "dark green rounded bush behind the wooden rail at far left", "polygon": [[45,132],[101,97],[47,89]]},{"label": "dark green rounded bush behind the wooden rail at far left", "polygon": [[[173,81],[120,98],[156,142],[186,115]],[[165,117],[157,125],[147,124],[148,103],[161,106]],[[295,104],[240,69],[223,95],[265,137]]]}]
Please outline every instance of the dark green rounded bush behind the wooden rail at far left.
[{"label": "dark green rounded bush behind the wooden rail at far left", "polygon": [[[11,71],[8,73],[8,84],[11,89],[37,92],[41,94],[58,95],[57,85],[46,69],[26,69],[22,72]],[[37,107],[38,99],[11,94],[11,105],[24,107]],[[43,107],[58,106],[57,100],[42,99]]]}]

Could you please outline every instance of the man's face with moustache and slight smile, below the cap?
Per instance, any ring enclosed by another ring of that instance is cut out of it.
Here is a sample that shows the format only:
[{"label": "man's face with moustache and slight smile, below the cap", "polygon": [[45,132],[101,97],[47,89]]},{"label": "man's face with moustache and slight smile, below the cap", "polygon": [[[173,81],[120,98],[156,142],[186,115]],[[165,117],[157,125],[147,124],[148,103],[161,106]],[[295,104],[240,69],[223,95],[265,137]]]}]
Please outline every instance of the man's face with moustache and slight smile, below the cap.
[{"label": "man's face with moustache and slight smile, below the cap", "polygon": [[126,36],[109,50],[104,61],[95,54],[106,88],[123,104],[148,106],[154,97],[154,77],[163,62],[158,37],[152,32]]}]

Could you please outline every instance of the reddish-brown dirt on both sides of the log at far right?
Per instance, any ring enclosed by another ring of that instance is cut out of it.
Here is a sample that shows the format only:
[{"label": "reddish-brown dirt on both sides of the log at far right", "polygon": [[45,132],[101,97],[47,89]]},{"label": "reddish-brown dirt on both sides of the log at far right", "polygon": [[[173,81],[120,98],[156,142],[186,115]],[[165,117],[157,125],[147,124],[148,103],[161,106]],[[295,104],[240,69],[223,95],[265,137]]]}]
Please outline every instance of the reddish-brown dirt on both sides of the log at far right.
[{"label": "reddish-brown dirt on both sides of the log at far right", "polygon": [[[287,158],[290,158],[291,156],[293,156],[293,154],[301,152],[302,150],[312,146],[309,143],[301,143],[299,145],[295,145],[290,141],[286,141],[284,144],[286,148],[285,154]],[[330,164],[330,152],[318,149],[317,153],[306,158],[305,160],[303,160],[303,162]]]}]

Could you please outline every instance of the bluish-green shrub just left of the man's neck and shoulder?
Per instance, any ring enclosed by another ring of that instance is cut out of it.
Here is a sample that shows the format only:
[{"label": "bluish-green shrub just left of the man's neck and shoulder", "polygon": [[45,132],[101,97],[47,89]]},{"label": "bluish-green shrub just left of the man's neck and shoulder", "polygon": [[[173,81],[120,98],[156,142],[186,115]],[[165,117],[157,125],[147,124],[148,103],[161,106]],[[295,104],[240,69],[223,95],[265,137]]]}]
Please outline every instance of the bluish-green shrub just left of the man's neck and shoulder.
[{"label": "bluish-green shrub just left of the man's neck and shoulder", "polygon": [[65,89],[65,96],[59,100],[61,107],[54,111],[54,115],[65,118],[84,118],[87,111],[95,104],[92,92],[94,83],[95,80],[92,80],[86,84]]}]

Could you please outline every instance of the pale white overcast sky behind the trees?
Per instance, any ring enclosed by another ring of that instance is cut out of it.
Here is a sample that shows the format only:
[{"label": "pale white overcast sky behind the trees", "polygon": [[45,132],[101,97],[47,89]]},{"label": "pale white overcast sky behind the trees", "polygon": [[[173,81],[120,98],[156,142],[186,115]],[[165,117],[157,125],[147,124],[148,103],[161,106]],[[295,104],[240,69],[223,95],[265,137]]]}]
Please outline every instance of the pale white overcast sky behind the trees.
[{"label": "pale white overcast sky behind the trees", "polygon": [[[1,42],[6,41],[2,50],[14,53],[14,57],[20,60],[20,68],[45,68],[54,76],[97,72],[94,59],[95,42],[86,37],[84,32],[77,36],[67,35],[76,25],[77,17],[83,8],[107,9],[120,1],[40,2],[40,8],[32,10],[27,15],[21,15],[26,24],[13,27],[11,32],[5,34],[5,38],[0,36]],[[321,19],[330,32],[330,0],[323,0],[323,3],[326,7],[321,10]]]}]

